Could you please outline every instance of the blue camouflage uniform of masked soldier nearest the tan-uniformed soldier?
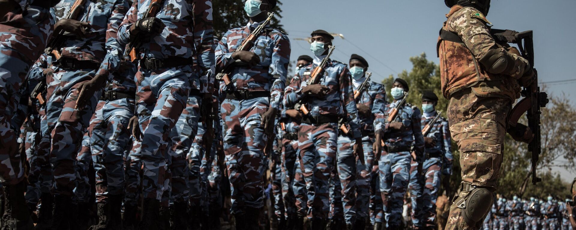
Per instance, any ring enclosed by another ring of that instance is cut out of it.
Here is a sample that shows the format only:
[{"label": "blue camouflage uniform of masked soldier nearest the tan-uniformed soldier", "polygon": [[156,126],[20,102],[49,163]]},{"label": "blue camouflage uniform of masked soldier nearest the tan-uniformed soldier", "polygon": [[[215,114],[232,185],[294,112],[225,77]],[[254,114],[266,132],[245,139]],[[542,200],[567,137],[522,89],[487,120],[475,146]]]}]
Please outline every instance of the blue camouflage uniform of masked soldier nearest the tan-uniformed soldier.
[{"label": "blue camouflage uniform of masked soldier nearest the tan-uniformed soldier", "polygon": [[[422,116],[422,128],[431,122],[437,112],[424,113]],[[422,164],[423,178],[419,185],[417,177],[417,164],[410,168],[410,194],[412,198],[412,223],[416,227],[436,226],[436,199],[442,181],[441,175],[450,177],[452,175],[452,151],[450,145],[450,130],[448,121],[439,118],[432,125],[428,136],[436,141],[436,146],[425,149],[426,160]],[[414,162],[412,162],[414,163]],[[412,186],[422,186],[420,193],[413,194]],[[419,195],[419,196],[416,196]]]}]

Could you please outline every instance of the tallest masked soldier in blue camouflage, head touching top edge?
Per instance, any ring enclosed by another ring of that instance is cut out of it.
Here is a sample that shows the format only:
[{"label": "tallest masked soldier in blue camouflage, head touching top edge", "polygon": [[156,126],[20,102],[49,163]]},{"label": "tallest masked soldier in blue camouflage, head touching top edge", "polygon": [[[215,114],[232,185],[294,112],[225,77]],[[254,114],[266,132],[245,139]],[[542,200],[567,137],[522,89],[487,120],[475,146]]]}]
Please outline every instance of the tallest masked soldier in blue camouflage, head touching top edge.
[{"label": "tallest masked soldier in blue camouflage, head touching top edge", "polygon": [[[228,74],[230,85],[221,82],[223,99],[223,148],[232,184],[232,209],[238,229],[255,229],[264,189],[262,158],[264,147],[274,139],[275,116],[279,113],[290,60],[290,41],[286,34],[266,25],[256,37],[251,51],[236,50],[253,29],[267,18],[275,0],[245,2],[248,25],[226,32],[216,48],[217,68],[223,70],[235,61]],[[257,47],[257,48],[256,48]],[[271,146],[269,146],[271,147]]]}]

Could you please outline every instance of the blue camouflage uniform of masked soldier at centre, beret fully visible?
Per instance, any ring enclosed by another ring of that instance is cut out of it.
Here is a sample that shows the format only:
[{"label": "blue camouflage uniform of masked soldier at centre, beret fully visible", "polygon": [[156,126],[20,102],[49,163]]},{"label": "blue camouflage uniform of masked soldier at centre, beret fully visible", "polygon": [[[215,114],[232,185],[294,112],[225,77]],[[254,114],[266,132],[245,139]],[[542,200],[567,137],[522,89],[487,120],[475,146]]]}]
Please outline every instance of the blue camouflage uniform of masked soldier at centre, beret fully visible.
[{"label": "blue camouflage uniform of masked soldier at centre, beret fully visible", "polygon": [[[308,216],[309,219],[322,223],[327,220],[329,213],[329,179],[336,163],[338,151],[338,117],[348,121],[353,138],[361,137],[359,120],[354,91],[351,83],[350,71],[346,64],[329,60],[324,68],[324,76],[320,84],[327,86],[329,91],[325,98],[305,98],[302,88],[307,86],[310,70],[315,68],[323,57],[314,57],[311,68],[302,68],[292,79],[286,89],[284,106],[293,108],[295,104],[304,100],[310,113],[306,118],[310,121],[302,122],[298,132],[298,151],[300,151],[300,164],[304,172],[308,197],[296,197],[297,212],[299,216]],[[314,120],[325,117],[327,123],[314,124]],[[303,120],[304,121],[304,120]],[[300,183],[295,183],[294,191],[300,191]],[[298,196],[299,194],[297,194]],[[304,202],[306,201],[306,206]]]}]

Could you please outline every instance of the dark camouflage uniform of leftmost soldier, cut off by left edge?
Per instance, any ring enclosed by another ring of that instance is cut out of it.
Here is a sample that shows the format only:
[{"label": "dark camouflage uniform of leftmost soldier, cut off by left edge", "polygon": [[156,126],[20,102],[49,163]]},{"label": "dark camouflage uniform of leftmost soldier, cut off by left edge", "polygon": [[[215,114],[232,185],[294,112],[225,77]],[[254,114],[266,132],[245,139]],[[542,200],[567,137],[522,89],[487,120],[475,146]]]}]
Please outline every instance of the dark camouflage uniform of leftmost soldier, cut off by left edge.
[{"label": "dark camouflage uniform of leftmost soldier, cut off by left edge", "polygon": [[[20,89],[25,85],[26,73],[43,52],[52,33],[54,20],[50,4],[44,0],[18,0],[20,7],[7,13],[0,23],[0,181],[16,184],[24,171],[17,154],[17,129],[12,116],[20,103]],[[26,100],[27,101],[27,100]]]}]

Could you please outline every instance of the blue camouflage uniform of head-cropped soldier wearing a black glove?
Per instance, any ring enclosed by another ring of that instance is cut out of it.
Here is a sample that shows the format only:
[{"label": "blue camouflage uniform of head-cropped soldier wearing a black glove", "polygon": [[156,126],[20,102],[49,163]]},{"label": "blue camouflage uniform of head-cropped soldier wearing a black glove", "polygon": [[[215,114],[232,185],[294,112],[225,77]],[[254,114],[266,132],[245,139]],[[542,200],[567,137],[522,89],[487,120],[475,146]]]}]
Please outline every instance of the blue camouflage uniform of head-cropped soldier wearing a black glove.
[{"label": "blue camouflage uniform of head-cropped soldier wearing a black glove", "polygon": [[[196,26],[194,21],[194,4],[200,2],[211,5],[210,1],[177,1],[167,0],[156,17],[160,18],[166,28],[161,34],[151,37],[138,50],[140,59],[165,59],[180,57],[192,59],[212,48],[212,38],[206,40],[202,47],[196,46]],[[151,1],[134,1],[124,17],[119,29],[119,41],[126,45],[130,41],[130,26],[147,13]],[[170,64],[170,63],[165,63]],[[180,114],[185,109],[192,86],[201,94],[213,91],[213,79],[209,70],[202,76],[195,75],[192,65],[179,67],[147,69],[142,64],[136,74],[137,97],[136,113],[142,130],[140,158],[143,164],[143,196],[162,200],[162,194],[169,189],[168,176],[168,140],[169,131],[175,127]],[[169,193],[166,196],[169,198]],[[166,204],[164,204],[166,205]]]}]

